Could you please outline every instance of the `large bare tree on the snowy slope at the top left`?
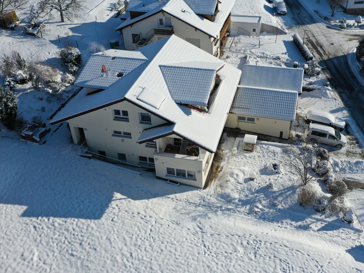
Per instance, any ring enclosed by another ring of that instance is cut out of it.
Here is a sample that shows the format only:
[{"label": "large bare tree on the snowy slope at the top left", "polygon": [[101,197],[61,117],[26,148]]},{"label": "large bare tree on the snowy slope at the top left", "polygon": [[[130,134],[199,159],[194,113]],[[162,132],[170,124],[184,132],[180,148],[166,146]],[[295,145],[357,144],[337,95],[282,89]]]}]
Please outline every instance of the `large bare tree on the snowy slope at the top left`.
[{"label": "large bare tree on the snowy slope at the top left", "polygon": [[83,0],[40,0],[39,8],[45,15],[52,17],[52,11],[58,11],[62,23],[66,18],[72,21],[79,17],[85,6]]}]

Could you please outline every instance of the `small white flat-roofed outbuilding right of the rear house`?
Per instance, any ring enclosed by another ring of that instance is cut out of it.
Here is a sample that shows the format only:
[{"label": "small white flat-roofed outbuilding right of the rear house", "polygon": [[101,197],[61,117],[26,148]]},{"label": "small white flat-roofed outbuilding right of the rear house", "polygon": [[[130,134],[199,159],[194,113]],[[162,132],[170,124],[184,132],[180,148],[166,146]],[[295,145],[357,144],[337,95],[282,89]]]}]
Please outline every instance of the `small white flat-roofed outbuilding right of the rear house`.
[{"label": "small white flat-roofed outbuilding right of the rear house", "polygon": [[235,31],[241,35],[259,37],[262,26],[261,16],[232,15],[230,32]]}]

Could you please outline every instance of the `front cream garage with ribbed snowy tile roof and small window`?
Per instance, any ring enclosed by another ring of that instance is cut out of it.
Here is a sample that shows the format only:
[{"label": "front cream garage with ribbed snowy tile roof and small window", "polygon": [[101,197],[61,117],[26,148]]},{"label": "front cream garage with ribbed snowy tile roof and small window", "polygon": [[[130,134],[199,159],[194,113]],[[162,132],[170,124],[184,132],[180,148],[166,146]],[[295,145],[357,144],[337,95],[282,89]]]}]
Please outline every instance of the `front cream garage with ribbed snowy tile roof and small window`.
[{"label": "front cream garage with ribbed snowy tile roof and small window", "polygon": [[238,86],[225,126],[288,139],[297,98],[296,91]]}]

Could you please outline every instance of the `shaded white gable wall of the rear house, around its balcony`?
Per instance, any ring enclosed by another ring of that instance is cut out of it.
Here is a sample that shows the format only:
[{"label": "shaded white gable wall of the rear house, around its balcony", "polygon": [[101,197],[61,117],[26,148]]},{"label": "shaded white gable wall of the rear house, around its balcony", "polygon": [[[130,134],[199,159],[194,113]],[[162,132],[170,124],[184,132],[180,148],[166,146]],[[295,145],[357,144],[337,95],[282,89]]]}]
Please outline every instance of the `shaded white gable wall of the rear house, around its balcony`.
[{"label": "shaded white gable wall of the rear house, around its balcony", "polygon": [[[183,40],[186,40],[186,38],[192,38],[192,39],[200,39],[200,48],[202,50],[205,50],[206,52],[212,54],[211,52],[211,44],[214,40],[213,37],[209,38],[209,35],[206,33],[203,33],[197,29],[195,30],[194,27],[191,27],[190,25],[186,24],[185,22],[167,14],[164,13],[165,17],[171,17],[171,25],[173,25],[174,28],[174,35],[180,37]],[[123,38],[124,38],[124,47],[126,50],[136,50],[137,46],[136,44],[132,43],[132,33],[139,34],[142,33],[142,38],[145,37],[145,34],[149,32],[152,28],[158,27],[158,18],[163,17],[162,12],[159,12],[153,16],[150,16],[146,19],[143,19],[142,21],[139,21],[132,26],[128,26],[122,30],[123,32]],[[157,38],[154,37],[151,41],[156,41]]]}]

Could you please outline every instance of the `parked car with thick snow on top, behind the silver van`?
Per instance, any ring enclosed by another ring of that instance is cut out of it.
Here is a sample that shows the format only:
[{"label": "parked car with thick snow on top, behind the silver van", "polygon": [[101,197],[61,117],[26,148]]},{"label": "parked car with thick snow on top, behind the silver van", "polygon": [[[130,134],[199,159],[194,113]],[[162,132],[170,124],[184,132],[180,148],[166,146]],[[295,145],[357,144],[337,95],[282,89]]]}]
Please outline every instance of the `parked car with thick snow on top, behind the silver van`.
[{"label": "parked car with thick snow on top, behind the silver van", "polygon": [[310,124],[311,122],[330,126],[338,132],[343,131],[345,128],[345,121],[342,118],[336,118],[335,116],[323,111],[307,111],[305,123]]}]

